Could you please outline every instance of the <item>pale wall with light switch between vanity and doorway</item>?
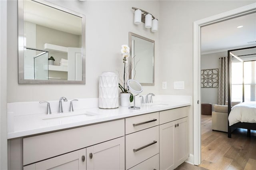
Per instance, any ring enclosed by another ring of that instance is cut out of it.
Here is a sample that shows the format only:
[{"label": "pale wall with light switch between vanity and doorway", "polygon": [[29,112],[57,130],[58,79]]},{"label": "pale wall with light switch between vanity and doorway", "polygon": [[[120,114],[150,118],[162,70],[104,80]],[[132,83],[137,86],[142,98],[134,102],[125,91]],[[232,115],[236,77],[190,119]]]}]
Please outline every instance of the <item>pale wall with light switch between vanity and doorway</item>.
[{"label": "pale wall with light switch between vanity and doorway", "polygon": [[[160,94],[193,96],[193,22],[255,1],[160,1],[159,84]],[[174,90],[174,81],[184,81],[184,90]],[[190,107],[190,154],[193,154],[193,108]]]}]

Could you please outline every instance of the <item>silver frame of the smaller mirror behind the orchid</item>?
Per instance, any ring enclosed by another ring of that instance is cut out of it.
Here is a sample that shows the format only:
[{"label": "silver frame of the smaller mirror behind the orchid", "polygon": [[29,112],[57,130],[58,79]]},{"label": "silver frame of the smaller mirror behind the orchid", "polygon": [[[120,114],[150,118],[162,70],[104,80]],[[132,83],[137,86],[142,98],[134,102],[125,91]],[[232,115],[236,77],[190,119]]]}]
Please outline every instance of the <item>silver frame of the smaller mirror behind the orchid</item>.
[{"label": "silver frame of the smaller mirror behind the orchid", "polygon": [[[138,34],[134,34],[132,32],[129,32],[129,47],[130,47],[130,53],[132,53],[132,36],[141,38],[143,40],[149,41],[154,43],[154,49],[153,49],[153,83],[140,83],[140,81],[138,81],[141,85],[145,85],[145,86],[153,86],[155,85],[155,41],[154,40],[150,40],[149,38],[140,36]],[[129,57],[129,79],[132,79],[132,57]],[[136,79],[135,79],[136,80]]]}]

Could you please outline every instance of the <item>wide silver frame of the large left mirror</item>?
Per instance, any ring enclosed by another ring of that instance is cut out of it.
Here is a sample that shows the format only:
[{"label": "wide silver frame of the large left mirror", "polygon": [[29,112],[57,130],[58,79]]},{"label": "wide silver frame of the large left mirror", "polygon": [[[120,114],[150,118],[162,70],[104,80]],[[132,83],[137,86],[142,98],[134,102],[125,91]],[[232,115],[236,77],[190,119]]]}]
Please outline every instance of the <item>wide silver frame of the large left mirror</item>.
[{"label": "wide silver frame of the large left mirror", "polygon": [[57,10],[70,13],[82,18],[82,81],[69,80],[32,80],[24,79],[24,5],[18,0],[18,83],[19,84],[85,84],[85,16],[67,8],[52,4],[44,0],[32,0]]}]

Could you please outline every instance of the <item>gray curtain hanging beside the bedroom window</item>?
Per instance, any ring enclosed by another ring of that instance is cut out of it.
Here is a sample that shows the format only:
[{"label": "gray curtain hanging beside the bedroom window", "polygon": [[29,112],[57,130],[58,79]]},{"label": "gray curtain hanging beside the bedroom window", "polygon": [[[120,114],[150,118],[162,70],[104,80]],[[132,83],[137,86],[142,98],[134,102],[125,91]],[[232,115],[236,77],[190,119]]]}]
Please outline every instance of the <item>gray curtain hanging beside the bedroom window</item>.
[{"label": "gray curtain hanging beside the bedroom window", "polygon": [[228,101],[228,57],[221,57],[219,60],[218,105],[225,105],[225,101]]}]

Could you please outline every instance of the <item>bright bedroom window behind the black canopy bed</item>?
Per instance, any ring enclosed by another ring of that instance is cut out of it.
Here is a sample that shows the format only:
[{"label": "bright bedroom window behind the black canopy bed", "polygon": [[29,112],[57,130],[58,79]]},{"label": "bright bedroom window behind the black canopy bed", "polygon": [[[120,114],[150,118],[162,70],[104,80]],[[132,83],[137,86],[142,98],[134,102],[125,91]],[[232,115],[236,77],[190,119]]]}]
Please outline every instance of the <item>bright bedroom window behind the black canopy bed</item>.
[{"label": "bright bedroom window behind the black canopy bed", "polygon": [[[242,101],[244,80],[244,101],[256,101],[256,61],[232,62],[231,101]],[[244,71],[244,76],[243,76]]]}]

